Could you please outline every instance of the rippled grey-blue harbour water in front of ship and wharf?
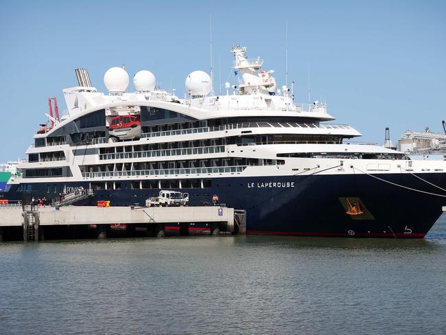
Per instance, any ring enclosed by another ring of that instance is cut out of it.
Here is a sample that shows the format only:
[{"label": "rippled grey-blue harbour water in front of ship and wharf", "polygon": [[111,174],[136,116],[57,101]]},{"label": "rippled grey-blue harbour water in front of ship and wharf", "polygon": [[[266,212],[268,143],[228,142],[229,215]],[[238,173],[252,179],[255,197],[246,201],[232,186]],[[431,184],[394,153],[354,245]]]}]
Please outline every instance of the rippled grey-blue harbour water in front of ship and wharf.
[{"label": "rippled grey-blue harbour water in front of ship and wharf", "polygon": [[444,334],[446,213],[425,240],[0,243],[0,334]]}]

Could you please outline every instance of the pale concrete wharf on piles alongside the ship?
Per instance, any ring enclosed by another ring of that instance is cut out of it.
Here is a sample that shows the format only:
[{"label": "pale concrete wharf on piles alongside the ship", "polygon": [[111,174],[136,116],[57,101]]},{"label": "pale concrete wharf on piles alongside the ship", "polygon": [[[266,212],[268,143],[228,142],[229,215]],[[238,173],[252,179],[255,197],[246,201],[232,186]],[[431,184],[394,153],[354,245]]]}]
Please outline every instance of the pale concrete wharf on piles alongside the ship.
[{"label": "pale concrete wharf on piles alongside the ship", "polygon": [[[191,224],[207,224],[212,235],[244,233],[244,211],[220,206],[203,207],[42,207],[30,205],[0,206],[0,240],[24,241],[52,238],[106,238],[110,228],[124,225],[126,236],[137,235],[143,228],[145,235],[164,236],[165,225],[175,224],[180,235],[189,235]],[[93,229],[93,234],[92,234]],[[21,238],[20,238],[21,240]]]}]

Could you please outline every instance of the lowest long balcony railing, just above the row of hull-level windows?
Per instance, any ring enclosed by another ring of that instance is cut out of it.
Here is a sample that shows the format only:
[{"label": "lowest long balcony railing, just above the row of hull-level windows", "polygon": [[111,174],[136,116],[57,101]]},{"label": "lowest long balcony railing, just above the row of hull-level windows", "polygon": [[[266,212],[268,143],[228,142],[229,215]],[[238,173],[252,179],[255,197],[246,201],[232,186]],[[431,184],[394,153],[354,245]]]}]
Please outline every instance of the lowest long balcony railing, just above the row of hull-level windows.
[{"label": "lowest long balcony railing, just above the row of hull-level windows", "polygon": [[247,165],[218,166],[218,167],[187,167],[181,169],[159,169],[159,170],[130,170],[109,172],[82,172],[83,178],[104,178],[121,176],[177,176],[180,174],[239,174],[246,169]]}]

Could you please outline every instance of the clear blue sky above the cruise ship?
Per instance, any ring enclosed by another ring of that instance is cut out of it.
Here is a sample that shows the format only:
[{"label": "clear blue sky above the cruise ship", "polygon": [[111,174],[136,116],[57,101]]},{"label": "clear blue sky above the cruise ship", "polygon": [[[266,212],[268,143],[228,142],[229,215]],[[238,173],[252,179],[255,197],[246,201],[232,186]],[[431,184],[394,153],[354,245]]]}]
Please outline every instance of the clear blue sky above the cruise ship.
[{"label": "clear blue sky above the cruise ship", "polygon": [[327,100],[336,122],[362,140],[396,141],[407,129],[441,131],[446,118],[445,1],[1,1],[0,162],[25,157],[47,97],[66,108],[62,89],[76,86],[74,69],[89,69],[104,90],[104,72],[126,65],[132,78],[152,71],[163,88],[183,96],[188,73],[209,71],[213,21],[215,86],[231,78],[231,45],[248,47],[285,82],[296,102]]}]

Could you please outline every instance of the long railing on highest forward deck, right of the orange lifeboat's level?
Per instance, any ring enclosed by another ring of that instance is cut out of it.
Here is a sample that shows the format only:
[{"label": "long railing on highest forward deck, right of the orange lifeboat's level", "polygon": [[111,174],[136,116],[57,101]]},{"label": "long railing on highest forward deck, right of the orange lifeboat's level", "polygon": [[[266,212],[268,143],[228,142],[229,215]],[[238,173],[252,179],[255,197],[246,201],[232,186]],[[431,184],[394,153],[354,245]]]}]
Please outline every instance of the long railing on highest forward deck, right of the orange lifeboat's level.
[{"label": "long railing on highest forward deck, right of the orange lifeboat's level", "polygon": [[240,128],[318,128],[318,129],[353,129],[348,124],[313,124],[297,122],[241,122],[209,127],[209,131],[232,130]]}]

